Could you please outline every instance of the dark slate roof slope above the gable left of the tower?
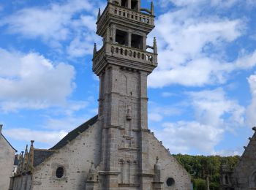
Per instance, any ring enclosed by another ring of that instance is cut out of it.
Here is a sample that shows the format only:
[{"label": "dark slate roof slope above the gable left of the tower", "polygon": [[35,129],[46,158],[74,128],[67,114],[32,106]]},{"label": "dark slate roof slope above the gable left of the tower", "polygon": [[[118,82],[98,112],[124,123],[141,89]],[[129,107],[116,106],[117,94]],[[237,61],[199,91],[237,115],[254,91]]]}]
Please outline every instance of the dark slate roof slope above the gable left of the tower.
[{"label": "dark slate roof slope above the gable left of the tower", "polygon": [[89,121],[86,121],[86,123],[78,126],[78,128],[72,130],[72,132],[69,132],[62,140],[60,140],[56,145],[50,148],[50,150],[59,150],[60,148],[63,148],[65,145],[67,145],[68,142],[78,137],[80,133],[86,131],[86,129],[89,129],[89,126],[92,126],[94,123],[96,123],[97,119],[98,115],[94,116]]}]

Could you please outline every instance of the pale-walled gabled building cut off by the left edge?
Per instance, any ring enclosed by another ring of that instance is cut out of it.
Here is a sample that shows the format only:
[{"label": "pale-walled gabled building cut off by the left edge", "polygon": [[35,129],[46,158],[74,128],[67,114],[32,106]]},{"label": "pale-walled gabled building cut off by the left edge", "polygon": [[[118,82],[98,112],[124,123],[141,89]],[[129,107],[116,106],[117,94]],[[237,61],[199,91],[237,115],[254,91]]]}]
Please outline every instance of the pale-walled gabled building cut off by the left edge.
[{"label": "pale-walled gabled building cut off by the left edge", "polygon": [[15,148],[1,133],[3,125],[0,125],[0,189],[8,190],[10,177],[12,176],[12,167],[15,159]]}]

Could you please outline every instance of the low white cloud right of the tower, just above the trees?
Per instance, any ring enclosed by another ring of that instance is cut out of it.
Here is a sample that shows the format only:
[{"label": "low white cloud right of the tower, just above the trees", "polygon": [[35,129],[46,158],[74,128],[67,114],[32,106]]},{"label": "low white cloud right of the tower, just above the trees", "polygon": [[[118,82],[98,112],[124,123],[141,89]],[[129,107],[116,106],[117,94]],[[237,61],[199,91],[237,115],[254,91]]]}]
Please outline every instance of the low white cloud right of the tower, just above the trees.
[{"label": "low white cloud right of the tower, just above the trees", "polygon": [[179,121],[164,123],[164,129],[156,132],[158,139],[170,148],[171,153],[211,153],[222,138],[223,129],[198,122]]}]

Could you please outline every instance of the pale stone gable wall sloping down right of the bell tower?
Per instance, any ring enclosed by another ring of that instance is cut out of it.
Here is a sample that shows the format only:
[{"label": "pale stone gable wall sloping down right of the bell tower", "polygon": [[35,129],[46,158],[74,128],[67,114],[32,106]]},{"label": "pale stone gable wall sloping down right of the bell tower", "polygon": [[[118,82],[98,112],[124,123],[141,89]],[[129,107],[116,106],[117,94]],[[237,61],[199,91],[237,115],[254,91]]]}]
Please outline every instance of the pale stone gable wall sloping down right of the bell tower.
[{"label": "pale stone gable wall sloping down right of the bell tower", "polygon": [[[156,158],[159,158],[161,165],[161,181],[164,183],[164,190],[190,190],[191,180],[189,173],[170,155],[154,134],[149,134],[149,164],[153,166]],[[172,186],[167,186],[167,179],[173,178]]]}]

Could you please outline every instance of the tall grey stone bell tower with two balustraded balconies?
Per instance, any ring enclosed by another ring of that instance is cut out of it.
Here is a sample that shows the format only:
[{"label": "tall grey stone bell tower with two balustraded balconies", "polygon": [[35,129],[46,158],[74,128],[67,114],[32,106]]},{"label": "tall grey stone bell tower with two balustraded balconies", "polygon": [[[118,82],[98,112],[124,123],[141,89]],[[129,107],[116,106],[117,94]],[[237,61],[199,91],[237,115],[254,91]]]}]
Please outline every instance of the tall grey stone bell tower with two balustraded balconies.
[{"label": "tall grey stone bell tower with two balustraded balconies", "polygon": [[[151,190],[148,165],[147,77],[157,67],[157,42],[146,45],[154,28],[154,4],[108,0],[97,20],[103,46],[94,45],[93,71],[99,76],[102,157],[99,189]],[[151,49],[151,50],[150,50]]]}]

